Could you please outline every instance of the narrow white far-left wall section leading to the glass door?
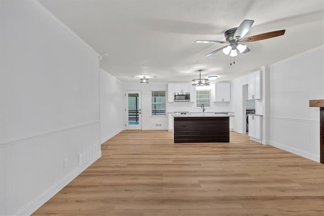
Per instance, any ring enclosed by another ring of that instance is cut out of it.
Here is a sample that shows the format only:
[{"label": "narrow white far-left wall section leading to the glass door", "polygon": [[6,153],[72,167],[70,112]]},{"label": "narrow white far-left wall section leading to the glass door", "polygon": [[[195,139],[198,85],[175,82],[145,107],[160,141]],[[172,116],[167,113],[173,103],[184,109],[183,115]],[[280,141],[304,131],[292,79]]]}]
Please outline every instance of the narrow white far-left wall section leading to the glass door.
[{"label": "narrow white far-left wall section leading to the glass door", "polygon": [[100,69],[101,143],[124,130],[124,85]]}]

